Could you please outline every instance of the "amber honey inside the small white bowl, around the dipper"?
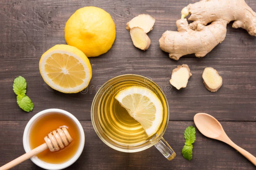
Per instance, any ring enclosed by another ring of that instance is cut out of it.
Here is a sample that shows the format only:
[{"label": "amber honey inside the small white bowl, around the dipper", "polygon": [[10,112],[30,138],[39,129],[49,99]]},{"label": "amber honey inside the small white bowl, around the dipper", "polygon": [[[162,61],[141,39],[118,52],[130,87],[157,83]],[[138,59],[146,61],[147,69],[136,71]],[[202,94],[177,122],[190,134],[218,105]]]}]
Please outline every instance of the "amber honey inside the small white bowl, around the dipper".
[{"label": "amber honey inside the small white bowl, around the dipper", "polygon": [[60,113],[51,113],[40,117],[31,127],[29,145],[31,149],[45,143],[44,137],[59,127],[66,127],[73,141],[59,151],[51,152],[49,149],[36,155],[38,159],[52,164],[60,164],[71,159],[79,147],[80,135],[78,128],[69,117]]}]

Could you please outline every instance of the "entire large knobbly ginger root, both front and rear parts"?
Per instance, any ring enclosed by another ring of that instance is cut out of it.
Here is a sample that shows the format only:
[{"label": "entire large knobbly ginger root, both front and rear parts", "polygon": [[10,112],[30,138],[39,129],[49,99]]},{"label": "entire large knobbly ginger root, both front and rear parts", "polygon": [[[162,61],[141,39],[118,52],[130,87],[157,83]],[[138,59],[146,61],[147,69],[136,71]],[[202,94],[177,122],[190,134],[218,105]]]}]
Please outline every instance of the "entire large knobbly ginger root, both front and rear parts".
[{"label": "entire large knobbly ginger root, both front and rear parts", "polygon": [[[184,18],[189,14],[188,20],[194,22],[188,25]],[[256,36],[256,13],[244,0],[201,0],[189,4],[176,22],[178,32],[164,32],[159,39],[160,48],[174,60],[192,53],[204,57],[224,40],[230,21],[234,21],[234,28],[244,28]]]}]

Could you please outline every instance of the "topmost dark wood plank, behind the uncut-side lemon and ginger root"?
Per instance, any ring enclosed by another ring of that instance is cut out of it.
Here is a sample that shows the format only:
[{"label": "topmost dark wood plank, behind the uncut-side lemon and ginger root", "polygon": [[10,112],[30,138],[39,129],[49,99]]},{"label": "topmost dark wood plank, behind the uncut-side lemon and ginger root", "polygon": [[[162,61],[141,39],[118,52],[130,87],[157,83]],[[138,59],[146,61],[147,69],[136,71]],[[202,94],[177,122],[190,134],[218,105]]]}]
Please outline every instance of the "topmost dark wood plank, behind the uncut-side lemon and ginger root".
[{"label": "topmost dark wood plank, behind the uncut-side lemon and ginger root", "polygon": [[[65,23],[78,8],[84,6],[98,6],[109,12],[116,24],[116,40],[111,50],[103,54],[104,58],[168,58],[159,48],[158,39],[166,30],[177,30],[175,22],[180,18],[180,11],[189,3],[186,1],[141,1],[121,0],[103,1],[0,1],[0,55],[1,59],[31,59],[39,58],[47,49],[55,44],[65,44]],[[256,11],[254,0],[246,0]],[[148,33],[151,39],[149,50],[143,52],[132,45],[129,32],[125,24],[133,17],[148,13],[156,18],[154,29]],[[248,35],[243,29],[233,29],[228,25],[225,41],[218,45],[207,58],[221,57],[223,60],[233,61],[237,57],[254,58],[256,49],[255,37]],[[16,53],[14,53],[16,52]],[[19,53],[17,53],[19,52]],[[220,55],[221,54],[221,55]],[[188,55],[185,57],[193,57]],[[206,58],[206,57],[205,57]]]}]

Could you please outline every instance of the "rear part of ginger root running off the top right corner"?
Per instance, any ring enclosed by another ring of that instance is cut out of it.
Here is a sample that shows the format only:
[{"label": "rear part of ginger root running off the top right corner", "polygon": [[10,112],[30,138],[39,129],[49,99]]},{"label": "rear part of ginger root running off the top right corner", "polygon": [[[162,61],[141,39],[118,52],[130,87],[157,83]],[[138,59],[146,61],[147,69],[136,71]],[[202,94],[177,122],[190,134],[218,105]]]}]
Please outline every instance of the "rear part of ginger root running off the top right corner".
[{"label": "rear part of ginger root running off the top right corner", "polygon": [[207,25],[212,21],[234,21],[233,28],[243,28],[250,35],[256,36],[256,13],[244,0],[201,0],[189,4],[183,10],[190,15],[188,20],[195,21],[190,24],[194,30],[197,25]]}]

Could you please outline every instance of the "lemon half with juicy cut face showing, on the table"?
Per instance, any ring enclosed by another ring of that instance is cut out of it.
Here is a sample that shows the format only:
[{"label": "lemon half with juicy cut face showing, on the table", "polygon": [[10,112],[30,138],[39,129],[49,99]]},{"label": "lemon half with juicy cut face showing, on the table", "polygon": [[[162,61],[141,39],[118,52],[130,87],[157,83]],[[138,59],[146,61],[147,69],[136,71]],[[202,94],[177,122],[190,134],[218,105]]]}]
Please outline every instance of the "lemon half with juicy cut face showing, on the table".
[{"label": "lemon half with juicy cut face showing, on the table", "polygon": [[86,55],[76,47],[55,45],[39,61],[44,81],[63,93],[77,93],[85,89],[92,78],[92,67]]}]

